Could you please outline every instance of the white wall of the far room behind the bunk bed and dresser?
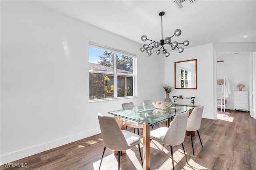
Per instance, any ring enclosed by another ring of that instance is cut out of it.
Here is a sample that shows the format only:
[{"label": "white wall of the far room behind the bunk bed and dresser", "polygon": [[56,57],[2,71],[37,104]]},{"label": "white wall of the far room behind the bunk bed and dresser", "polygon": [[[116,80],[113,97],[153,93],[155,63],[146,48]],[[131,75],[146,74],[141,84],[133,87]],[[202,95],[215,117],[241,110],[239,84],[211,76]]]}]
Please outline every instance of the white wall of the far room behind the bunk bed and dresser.
[{"label": "white wall of the far room behind the bunk bed and dresser", "polygon": [[217,79],[226,77],[230,82],[231,94],[226,98],[228,103],[226,109],[234,109],[234,91],[239,91],[236,87],[238,83],[245,85],[242,91],[249,91],[249,56],[250,53],[232,53],[216,57],[217,61],[224,61],[217,63]]}]

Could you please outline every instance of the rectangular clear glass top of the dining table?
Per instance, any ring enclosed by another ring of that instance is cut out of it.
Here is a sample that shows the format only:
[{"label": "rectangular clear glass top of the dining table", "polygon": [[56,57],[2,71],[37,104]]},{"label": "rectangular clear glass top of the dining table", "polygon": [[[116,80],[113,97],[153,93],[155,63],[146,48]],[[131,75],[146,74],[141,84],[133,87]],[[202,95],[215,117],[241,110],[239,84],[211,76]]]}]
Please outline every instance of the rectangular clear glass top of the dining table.
[{"label": "rectangular clear glass top of the dining table", "polygon": [[180,105],[172,103],[166,109],[158,109],[154,105],[137,106],[131,109],[122,109],[108,112],[111,115],[121,119],[143,123],[149,126],[155,126],[163,123],[179,113],[194,109],[197,105]]}]

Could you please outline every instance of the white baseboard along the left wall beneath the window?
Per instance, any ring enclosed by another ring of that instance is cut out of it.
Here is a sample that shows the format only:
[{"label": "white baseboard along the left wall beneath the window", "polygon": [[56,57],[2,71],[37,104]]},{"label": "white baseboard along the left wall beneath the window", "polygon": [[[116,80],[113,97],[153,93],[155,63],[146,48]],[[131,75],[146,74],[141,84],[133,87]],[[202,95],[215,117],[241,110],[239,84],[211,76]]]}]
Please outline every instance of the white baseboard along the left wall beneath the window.
[{"label": "white baseboard along the left wall beneath the window", "polygon": [[[22,158],[26,158],[28,156],[38,154],[40,152],[44,152],[46,150],[50,150],[52,148],[56,148],[58,146],[62,146],[64,144],[68,144],[71,142],[75,142],[77,140],[87,138],[89,136],[93,136],[93,135],[99,134],[99,133],[100,133],[100,128],[96,128],[96,129],[93,129],[90,131],[80,132],[78,134],[66,136],[64,138],[52,140],[50,142],[38,144],[35,146],[31,146],[29,148],[24,148],[22,150],[17,150],[15,152],[4,154],[4,155],[0,156],[0,164],[7,164],[7,163],[10,163],[10,162],[22,159]],[[26,162],[16,162],[16,163],[26,163]]]}]

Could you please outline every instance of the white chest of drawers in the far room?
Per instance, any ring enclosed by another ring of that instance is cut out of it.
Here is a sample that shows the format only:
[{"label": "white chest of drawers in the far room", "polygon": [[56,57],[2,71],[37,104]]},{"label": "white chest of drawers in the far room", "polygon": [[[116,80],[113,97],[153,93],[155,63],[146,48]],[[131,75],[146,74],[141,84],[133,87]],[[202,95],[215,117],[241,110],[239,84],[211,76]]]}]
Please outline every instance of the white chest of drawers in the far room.
[{"label": "white chest of drawers in the far room", "polygon": [[248,91],[234,91],[234,109],[249,110]]}]

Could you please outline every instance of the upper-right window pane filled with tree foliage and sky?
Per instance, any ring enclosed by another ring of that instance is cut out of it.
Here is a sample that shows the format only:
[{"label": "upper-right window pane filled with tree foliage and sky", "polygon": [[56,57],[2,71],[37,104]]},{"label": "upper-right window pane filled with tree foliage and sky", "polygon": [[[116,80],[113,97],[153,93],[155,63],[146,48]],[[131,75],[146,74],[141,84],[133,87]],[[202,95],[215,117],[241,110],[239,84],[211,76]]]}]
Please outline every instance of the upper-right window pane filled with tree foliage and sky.
[{"label": "upper-right window pane filled with tree foliage and sky", "polygon": [[133,74],[133,57],[116,54],[117,73]]}]

